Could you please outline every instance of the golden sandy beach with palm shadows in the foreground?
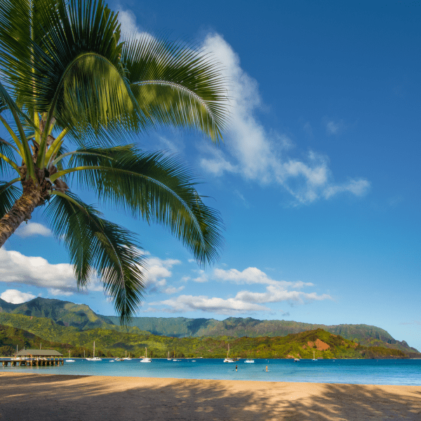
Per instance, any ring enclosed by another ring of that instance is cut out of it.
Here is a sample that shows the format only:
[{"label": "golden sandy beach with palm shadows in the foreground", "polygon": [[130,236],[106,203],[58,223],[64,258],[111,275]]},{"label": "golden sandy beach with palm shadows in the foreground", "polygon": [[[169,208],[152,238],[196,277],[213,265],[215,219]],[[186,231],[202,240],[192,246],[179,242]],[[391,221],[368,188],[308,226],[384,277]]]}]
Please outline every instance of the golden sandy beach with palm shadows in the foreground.
[{"label": "golden sandy beach with palm shadows in the foreground", "polygon": [[0,373],[0,420],[421,420],[421,386]]}]

